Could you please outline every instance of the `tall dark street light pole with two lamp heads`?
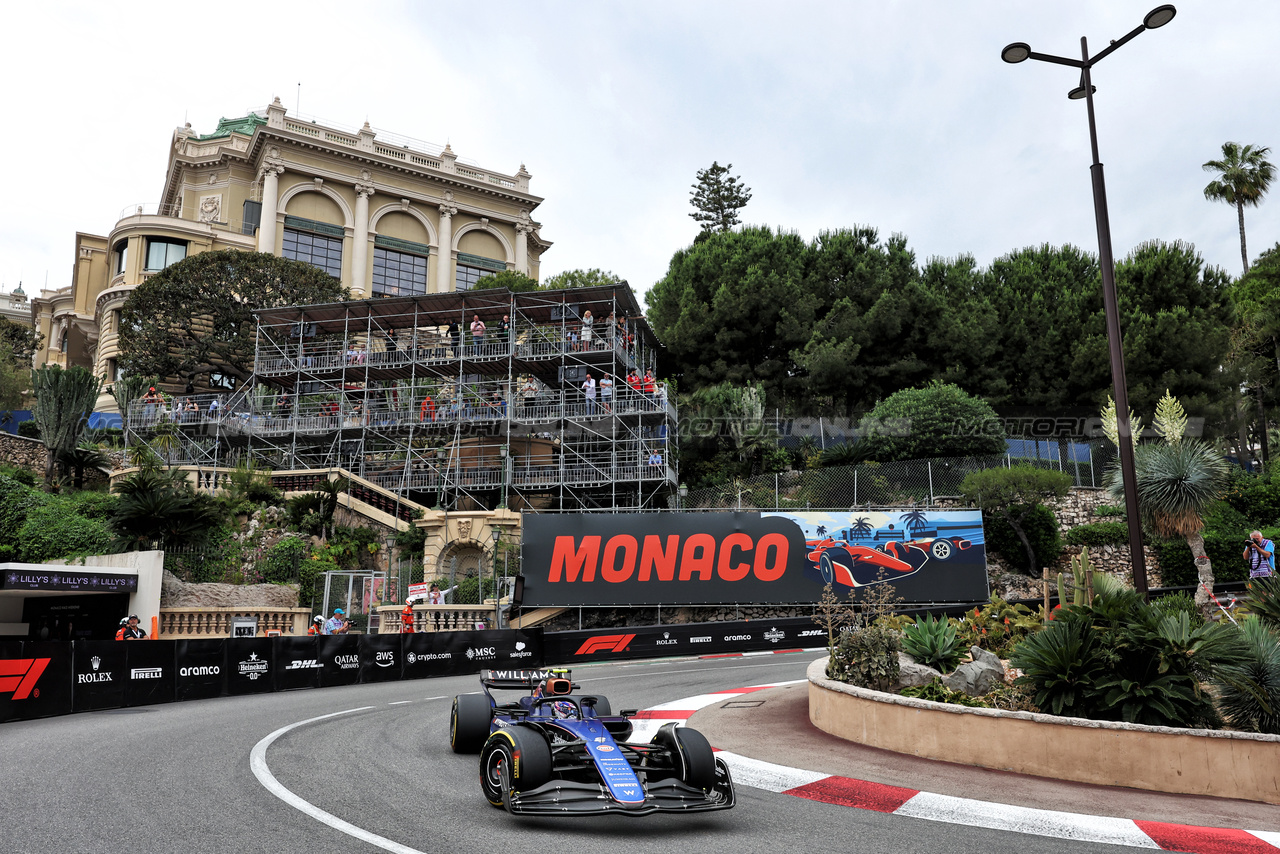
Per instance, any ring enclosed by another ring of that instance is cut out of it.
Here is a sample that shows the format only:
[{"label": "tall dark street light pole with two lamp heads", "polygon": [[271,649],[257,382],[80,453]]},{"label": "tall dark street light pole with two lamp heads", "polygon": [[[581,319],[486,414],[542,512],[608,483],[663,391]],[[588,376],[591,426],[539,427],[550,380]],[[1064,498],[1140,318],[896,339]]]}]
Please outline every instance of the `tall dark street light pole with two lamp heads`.
[{"label": "tall dark street light pole with two lamp heads", "polygon": [[1133,40],[1146,29],[1164,27],[1178,10],[1171,5],[1152,9],[1143,18],[1142,26],[1134,27],[1123,38],[1112,41],[1107,47],[1089,56],[1089,44],[1080,38],[1080,59],[1037,54],[1030,45],[1021,41],[1000,51],[1006,63],[1021,63],[1037,59],[1043,63],[1070,65],[1080,69],[1080,85],[1068,92],[1073,101],[1084,99],[1089,113],[1089,147],[1093,150],[1093,165],[1089,174],[1093,178],[1093,216],[1098,225],[1098,261],[1102,266],[1102,309],[1107,320],[1107,344],[1111,351],[1111,387],[1116,401],[1116,438],[1120,440],[1120,476],[1124,481],[1125,516],[1129,520],[1129,560],[1133,567],[1134,589],[1147,595],[1147,561],[1142,551],[1142,522],[1138,516],[1138,478],[1133,465],[1133,430],[1129,424],[1129,387],[1124,375],[1124,342],[1120,337],[1120,309],[1116,301],[1115,259],[1111,255],[1111,222],[1107,216],[1107,187],[1102,175],[1102,161],[1098,159],[1098,129],[1093,118],[1093,92],[1091,72],[1094,65],[1115,52],[1121,45]]}]

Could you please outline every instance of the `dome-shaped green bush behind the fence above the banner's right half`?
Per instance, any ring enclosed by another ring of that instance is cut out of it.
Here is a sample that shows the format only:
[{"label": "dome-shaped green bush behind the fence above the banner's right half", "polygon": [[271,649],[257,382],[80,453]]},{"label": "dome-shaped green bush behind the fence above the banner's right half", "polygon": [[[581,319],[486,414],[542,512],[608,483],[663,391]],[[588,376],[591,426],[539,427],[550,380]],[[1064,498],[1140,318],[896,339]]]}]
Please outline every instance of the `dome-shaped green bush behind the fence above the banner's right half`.
[{"label": "dome-shaped green bush behind the fence above the banner's right half", "polygon": [[995,410],[964,389],[933,382],[888,397],[863,420],[860,444],[879,462],[1004,453]]}]

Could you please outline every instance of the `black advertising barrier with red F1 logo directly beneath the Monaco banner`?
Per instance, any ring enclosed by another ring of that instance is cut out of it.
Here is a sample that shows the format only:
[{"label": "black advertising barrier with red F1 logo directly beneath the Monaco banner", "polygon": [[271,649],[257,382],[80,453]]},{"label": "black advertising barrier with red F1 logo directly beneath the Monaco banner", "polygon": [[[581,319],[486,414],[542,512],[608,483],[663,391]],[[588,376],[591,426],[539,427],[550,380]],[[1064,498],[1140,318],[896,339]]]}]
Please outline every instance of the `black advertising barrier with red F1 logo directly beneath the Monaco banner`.
[{"label": "black advertising barrier with red F1 logo directly beneath the Monaco banner", "polygon": [[819,629],[812,617],[557,631],[543,638],[543,653],[550,666],[618,658],[716,656],[826,645],[827,632]]}]

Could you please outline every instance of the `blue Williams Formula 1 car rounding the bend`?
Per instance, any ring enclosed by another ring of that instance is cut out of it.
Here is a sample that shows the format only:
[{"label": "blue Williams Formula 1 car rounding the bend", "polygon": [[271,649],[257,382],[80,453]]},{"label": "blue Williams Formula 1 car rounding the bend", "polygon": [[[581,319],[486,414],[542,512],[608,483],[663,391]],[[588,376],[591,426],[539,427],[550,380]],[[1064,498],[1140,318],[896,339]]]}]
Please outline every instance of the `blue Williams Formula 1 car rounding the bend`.
[{"label": "blue Williams Formula 1 car rounding the bend", "polygon": [[[481,671],[483,694],[453,698],[449,746],[480,753],[480,789],[517,816],[730,809],[733,781],[696,730],[663,725],[652,743],[627,741],[635,709],[575,695],[567,670]],[[498,703],[493,690],[524,690]]]}]

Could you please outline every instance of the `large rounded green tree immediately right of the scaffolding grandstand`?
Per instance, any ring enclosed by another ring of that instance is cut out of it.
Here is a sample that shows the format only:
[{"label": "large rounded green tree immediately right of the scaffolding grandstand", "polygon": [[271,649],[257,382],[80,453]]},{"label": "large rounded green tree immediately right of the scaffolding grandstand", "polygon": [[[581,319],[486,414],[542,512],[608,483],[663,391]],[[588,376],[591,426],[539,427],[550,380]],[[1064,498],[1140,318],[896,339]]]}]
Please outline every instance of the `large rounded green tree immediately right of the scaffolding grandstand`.
[{"label": "large rounded green tree immediately right of the scaffolding grandstand", "polygon": [[813,323],[805,245],[767,227],[718,232],[671,259],[649,291],[648,319],[682,388],[759,383],[765,394],[800,388],[792,351]]}]

